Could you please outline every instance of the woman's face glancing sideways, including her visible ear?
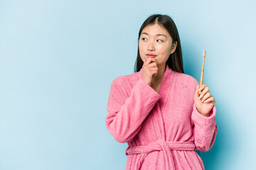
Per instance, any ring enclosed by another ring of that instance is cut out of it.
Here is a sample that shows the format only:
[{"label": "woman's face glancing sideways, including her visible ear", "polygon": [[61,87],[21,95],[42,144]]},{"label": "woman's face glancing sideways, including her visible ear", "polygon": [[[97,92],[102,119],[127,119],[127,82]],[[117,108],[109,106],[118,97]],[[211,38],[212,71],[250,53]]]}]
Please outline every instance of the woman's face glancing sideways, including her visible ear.
[{"label": "woman's face glancing sideways, including her visible ear", "polygon": [[142,30],[139,38],[139,54],[144,61],[144,56],[156,58],[158,65],[166,63],[176,50],[176,43],[172,45],[171,35],[158,23],[148,25]]}]

